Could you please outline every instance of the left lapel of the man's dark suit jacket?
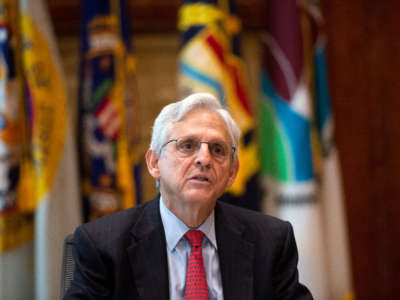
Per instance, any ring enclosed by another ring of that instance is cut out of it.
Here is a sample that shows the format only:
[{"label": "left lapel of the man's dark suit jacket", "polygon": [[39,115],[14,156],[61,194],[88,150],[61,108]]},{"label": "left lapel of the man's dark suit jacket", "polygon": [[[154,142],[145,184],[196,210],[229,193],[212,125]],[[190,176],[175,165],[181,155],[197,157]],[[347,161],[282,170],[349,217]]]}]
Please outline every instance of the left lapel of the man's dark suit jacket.
[{"label": "left lapel of the man's dark suit jacket", "polygon": [[159,198],[144,208],[131,234],[127,251],[140,299],[168,300],[168,261]]}]

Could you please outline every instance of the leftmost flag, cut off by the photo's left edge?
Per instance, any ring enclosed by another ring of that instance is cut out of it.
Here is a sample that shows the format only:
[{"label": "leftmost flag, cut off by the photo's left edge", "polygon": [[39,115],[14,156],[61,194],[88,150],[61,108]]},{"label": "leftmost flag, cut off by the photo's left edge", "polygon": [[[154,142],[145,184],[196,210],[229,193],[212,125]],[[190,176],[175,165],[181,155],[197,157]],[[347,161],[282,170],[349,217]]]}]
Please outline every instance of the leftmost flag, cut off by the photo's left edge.
[{"label": "leftmost flag, cut off by the photo's left edge", "polygon": [[18,20],[17,3],[0,1],[0,299],[23,300],[34,297],[34,218],[19,197],[26,141]]}]

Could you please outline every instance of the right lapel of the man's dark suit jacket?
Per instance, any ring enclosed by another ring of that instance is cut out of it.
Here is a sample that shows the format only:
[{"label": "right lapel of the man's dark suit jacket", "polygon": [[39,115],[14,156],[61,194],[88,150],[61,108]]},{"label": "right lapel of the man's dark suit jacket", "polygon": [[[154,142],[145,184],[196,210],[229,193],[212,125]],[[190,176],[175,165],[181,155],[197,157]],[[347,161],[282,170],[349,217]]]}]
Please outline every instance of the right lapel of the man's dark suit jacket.
[{"label": "right lapel of the man's dark suit jacket", "polygon": [[253,299],[254,245],[244,238],[245,227],[223,204],[215,207],[215,231],[224,299]]}]

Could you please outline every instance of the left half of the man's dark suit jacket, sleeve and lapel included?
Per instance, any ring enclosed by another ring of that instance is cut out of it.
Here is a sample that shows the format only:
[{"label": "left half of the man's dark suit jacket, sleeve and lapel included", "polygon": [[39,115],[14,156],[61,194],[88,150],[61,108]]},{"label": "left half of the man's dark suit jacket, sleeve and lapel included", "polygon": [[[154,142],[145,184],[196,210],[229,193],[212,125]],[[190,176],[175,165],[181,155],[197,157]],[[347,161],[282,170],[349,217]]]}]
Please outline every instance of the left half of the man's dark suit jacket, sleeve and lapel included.
[{"label": "left half of the man's dark suit jacket, sleeve and lapel included", "polygon": [[[168,297],[158,197],[81,225],[73,243],[74,279],[64,299],[153,299],[148,291]],[[159,290],[153,274],[165,282]]]}]

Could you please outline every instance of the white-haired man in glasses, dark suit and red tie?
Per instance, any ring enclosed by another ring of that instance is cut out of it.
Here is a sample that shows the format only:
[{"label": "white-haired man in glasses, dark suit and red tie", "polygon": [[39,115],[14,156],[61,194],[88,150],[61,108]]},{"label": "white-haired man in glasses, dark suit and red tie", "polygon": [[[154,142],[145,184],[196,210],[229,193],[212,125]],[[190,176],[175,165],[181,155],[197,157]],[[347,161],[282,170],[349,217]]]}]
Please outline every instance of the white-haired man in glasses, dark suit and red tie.
[{"label": "white-haired man in glasses, dark suit and red tie", "polygon": [[76,230],[65,299],[312,299],[290,224],[217,201],[239,136],[209,94],[164,107],[146,153],[160,195]]}]

